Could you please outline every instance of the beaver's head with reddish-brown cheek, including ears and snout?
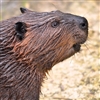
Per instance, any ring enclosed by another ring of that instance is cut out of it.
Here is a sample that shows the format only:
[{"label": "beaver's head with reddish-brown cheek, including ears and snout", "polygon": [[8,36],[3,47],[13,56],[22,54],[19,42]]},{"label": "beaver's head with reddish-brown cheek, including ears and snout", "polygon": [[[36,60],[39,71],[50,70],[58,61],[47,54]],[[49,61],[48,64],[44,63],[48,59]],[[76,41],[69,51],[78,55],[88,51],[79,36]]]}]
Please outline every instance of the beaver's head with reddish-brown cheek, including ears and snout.
[{"label": "beaver's head with reddish-brown cheek, including ears and snout", "polygon": [[16,21],[15,31],[24,37],[15,44],[14,52],[28,64],[36,63],[42,71],[80,51],[80,44],[87,39],[88,23],[84,17],[60,11],[38,13],[23,8],[21,11],[24,14]]}]

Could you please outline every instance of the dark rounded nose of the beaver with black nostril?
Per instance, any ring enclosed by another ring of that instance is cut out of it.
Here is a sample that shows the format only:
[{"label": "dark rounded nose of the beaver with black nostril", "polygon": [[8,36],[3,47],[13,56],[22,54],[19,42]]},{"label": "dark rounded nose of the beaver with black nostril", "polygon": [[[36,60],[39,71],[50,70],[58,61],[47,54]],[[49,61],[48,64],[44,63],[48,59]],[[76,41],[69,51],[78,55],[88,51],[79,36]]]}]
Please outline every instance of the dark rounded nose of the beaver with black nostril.
[{"label": "dark rounded nose of the beaver with black nostril", "polygon": [[86,18],[84,17],[81,17],[79,19],[79,27],[82,29],[82,30],[88,30],[88,21]]}]

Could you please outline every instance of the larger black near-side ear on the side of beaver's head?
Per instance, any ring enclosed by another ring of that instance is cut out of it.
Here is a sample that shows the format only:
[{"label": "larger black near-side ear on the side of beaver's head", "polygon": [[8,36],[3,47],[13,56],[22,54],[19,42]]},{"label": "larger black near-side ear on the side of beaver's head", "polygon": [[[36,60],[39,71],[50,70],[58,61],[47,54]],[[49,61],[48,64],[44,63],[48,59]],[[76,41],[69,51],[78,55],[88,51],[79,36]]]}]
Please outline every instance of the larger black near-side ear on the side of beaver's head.
[{"label": "larger black near-side ear on the side of beaver's head", "polygon": [[24,38],[24,34],[27,32],[26,24],[24,22],[15,23],[15,30],[17,38],[22,40]]}]

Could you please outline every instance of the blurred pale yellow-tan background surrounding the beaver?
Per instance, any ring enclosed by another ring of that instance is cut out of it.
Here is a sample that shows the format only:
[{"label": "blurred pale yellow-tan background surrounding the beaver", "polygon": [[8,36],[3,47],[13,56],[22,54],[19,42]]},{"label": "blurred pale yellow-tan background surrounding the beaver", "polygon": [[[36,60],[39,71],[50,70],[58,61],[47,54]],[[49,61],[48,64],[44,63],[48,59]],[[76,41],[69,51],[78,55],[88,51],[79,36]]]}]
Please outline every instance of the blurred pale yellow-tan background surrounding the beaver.
[{"label": "blurred pale yellow-tan background surrounding the beaver", "polygon": [[89,38],[81,52],[53,67],[40,100],[100,100],[100,0],[0,0],[0,21],[21,14],[20,7],[60,10],[89,22]]}]

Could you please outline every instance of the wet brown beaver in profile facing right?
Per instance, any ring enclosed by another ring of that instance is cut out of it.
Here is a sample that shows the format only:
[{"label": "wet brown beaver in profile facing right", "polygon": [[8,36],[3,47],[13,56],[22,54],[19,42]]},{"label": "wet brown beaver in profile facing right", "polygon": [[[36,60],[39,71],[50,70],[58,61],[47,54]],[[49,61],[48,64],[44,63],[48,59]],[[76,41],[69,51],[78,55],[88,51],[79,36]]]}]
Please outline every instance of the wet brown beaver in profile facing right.
[{"label": "wet brown beaver in profile facing right", "polygon": [[39,100],[46,73],[79,52],[88,37],[84,17],[20,10],[0,22],[0,100]]}]

